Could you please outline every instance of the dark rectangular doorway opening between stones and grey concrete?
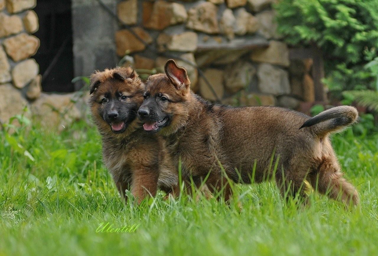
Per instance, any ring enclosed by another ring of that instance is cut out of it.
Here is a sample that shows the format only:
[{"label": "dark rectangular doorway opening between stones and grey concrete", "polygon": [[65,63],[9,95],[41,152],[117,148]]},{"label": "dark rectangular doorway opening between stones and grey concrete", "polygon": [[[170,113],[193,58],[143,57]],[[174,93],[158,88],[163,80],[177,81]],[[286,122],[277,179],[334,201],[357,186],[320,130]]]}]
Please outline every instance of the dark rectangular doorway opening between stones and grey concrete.
[{"label": "dark rectangular doorway opening between stones and grey concrete", "polygon": [[38,0],[34,8],[41,45],[34,56],[42,74],[43,92],[73,92],[71,0]]}]

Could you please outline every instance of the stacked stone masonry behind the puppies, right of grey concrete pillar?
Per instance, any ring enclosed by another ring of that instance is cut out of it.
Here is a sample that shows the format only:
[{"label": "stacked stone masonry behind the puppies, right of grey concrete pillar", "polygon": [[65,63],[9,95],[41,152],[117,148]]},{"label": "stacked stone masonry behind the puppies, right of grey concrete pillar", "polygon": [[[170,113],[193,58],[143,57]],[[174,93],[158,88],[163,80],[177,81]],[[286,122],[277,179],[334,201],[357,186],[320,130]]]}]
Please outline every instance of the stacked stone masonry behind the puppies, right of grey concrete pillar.
[{"label": "stacked stone masonry behind the puppies, right of grey concrete pillar", "polygon": [[[192,62],[204,71],[215,94],[198,77],[196,68],[180,60],[178,64],[187,68],[192,89],[211,101],[295,108],[299,99],[313,98],[302,97],[303,92],[299,97],[292,90],[295,79],[288,73],[289,51],[276,32],[273,2],[124,0],[118,4],[118,17],[132,26],[147,47],[121,29],[115,34],[117,54],[132,55],[137,69],[156,68],[159,72],[167,58],[156,56],[156,51]],[[250,43],[257,41],[260,43]],[[313,86],[305,90],[313,91]]]}]

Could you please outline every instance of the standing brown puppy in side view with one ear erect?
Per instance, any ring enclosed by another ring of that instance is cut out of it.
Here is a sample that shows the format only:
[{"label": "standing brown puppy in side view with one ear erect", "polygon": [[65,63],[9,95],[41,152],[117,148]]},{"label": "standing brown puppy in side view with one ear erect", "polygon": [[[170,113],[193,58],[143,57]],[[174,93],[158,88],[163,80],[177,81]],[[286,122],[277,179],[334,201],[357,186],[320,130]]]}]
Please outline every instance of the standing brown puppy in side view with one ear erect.
[{"label": "standing brown puppy in side view with one ear erect", "polygon": [[[166,140],[184,175],[203,177],[219,189],[226,180],[262,182],[275,178],[283,197],[298,195],[308,202],[307,180],[330,198],[358,204],[356,189],[342,176],[329,134],[358,118],[354,107],[341,106],[310,118],[278,107],[231,107],[211,104],[190,89],[183,67],[169,60],[165,74],[150,76],[138,111],[144,130]],[[273,166],[278,168],[275,170]],[[225,186],[225,196],[231,195]]]}]

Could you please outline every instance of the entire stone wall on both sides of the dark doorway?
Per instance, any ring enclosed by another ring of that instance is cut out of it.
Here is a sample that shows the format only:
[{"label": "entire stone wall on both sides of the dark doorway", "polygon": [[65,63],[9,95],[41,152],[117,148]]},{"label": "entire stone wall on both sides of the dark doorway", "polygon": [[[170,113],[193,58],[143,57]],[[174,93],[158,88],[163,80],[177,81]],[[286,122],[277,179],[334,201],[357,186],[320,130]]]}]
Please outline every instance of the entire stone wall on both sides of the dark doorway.
[{"label": "entire stone wall on both sides of the dark doorway", "polygon": [[[314,101],[312,59],[290,59],[276,33],[274,1],[102,0],[120,24],[97,1],[72,0],[75,76],[114,67],[128,55],[125,65],[147,78],[150,71],[163,72],[173,56],[187,69],[192,89],[206,99],[295,109]],[[38,29],[35,5],[36,0],[0,0],[0,121],[28,106],[46,126],[61,130],[84,116],[85,99],[41,92],[32,58],[40,44],[32,35]],[[186,61],[198,65],[206,79]]]}]

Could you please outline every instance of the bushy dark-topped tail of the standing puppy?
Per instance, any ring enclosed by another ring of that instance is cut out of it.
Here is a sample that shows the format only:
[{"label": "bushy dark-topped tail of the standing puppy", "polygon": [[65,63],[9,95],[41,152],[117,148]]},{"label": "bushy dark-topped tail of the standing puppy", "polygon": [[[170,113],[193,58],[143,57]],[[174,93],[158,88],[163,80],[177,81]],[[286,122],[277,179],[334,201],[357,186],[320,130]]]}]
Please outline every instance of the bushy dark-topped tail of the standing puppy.
[{"label": "bushy dark-topped tail of the standing puppy", "polygon": [[308,119],[299,128],[311,127],[314,133],[318,136],[324,136],[327,133],[338,132],[350,124],[356,122],[358,112],[352,106],[339,106],[327,109],[319,115]]}]

